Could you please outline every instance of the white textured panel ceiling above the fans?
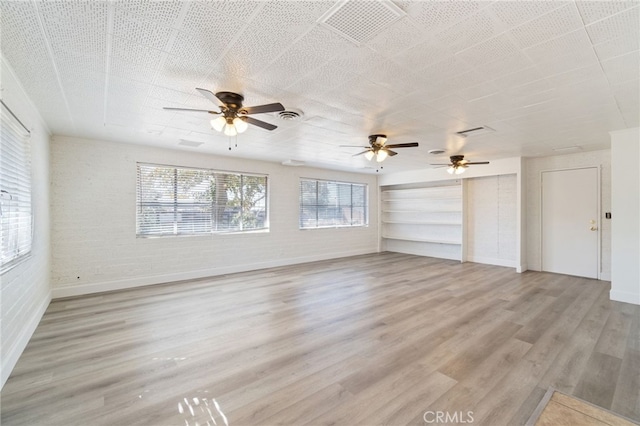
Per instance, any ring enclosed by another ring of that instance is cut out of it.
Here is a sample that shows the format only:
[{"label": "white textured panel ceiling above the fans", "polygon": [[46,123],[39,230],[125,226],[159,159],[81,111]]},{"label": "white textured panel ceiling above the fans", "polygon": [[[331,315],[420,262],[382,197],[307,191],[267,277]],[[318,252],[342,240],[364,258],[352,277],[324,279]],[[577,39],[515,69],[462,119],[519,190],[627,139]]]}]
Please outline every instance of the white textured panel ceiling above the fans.
[{"label": "white textured panel ceiling above the fans", "polygon": [[[59,135],[361,172],[375,163],[339,145],[420,142],[386,173],[608,148],[640,125],[638,0],[0,4],[2,55]],[[217,109],[196,87],[304,117],[256,116],[278,129],[228,151],[211,115],[162,109]]]}]

